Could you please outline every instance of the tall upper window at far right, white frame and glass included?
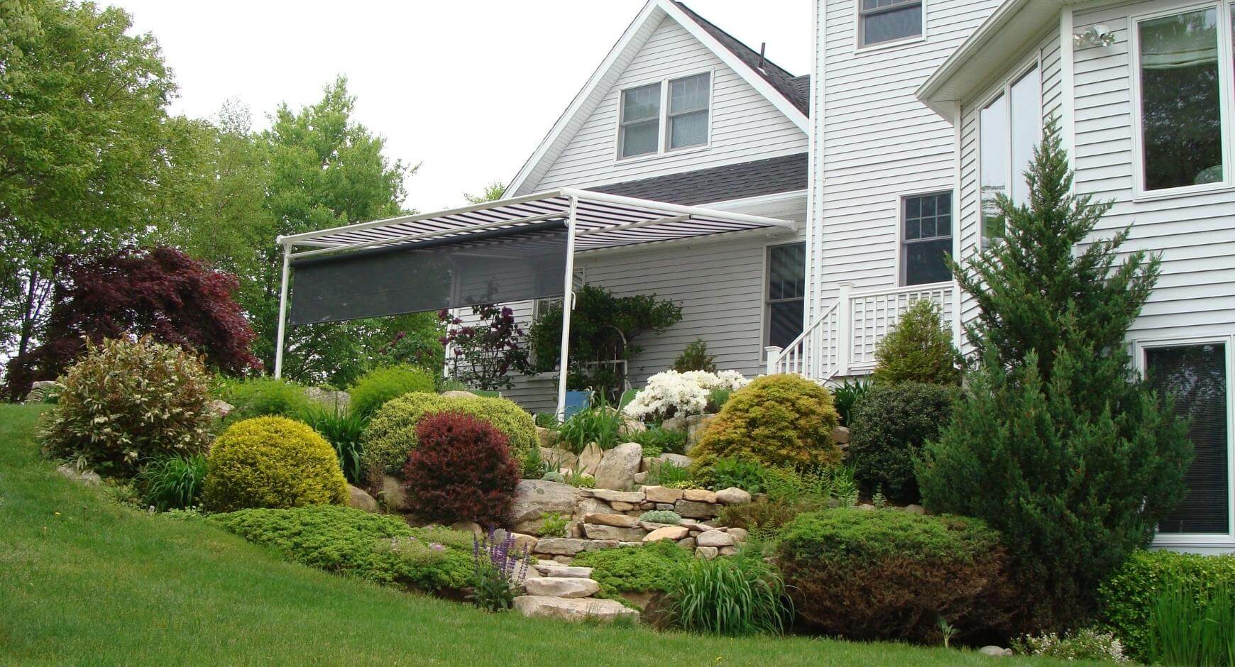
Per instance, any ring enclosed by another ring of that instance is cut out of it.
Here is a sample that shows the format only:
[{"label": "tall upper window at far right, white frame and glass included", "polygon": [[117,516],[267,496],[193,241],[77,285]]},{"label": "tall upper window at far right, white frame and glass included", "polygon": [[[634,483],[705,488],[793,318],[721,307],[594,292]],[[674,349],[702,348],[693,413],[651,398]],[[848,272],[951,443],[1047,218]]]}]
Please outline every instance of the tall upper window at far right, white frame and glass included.
[{"label": "tall upper window at far right, white frame and glass included", "polygon": [[1140,191],[1233,183],[1231,14],[1214,4],[1135,20]]}]

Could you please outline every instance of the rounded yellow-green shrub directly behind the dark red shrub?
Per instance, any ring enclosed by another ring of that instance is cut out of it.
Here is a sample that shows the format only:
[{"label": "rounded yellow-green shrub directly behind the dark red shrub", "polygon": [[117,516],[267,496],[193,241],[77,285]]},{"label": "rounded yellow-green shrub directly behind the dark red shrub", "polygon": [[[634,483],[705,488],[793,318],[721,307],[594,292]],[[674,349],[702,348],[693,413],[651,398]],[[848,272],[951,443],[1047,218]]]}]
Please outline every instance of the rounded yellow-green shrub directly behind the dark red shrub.
[{"label": "rounded yellow-green shrub directly behind the dark red shrub", "polygon": [[520,462],[538,446],[532,415],[513,400],[414,392],[387,401],[364,429],[361,469],[368,482],[377,483],[383,474],[401,477],[408,452],[416,447],[416,424],[426,415],[447,411],[493,424],[510,440],[510,453]]}]

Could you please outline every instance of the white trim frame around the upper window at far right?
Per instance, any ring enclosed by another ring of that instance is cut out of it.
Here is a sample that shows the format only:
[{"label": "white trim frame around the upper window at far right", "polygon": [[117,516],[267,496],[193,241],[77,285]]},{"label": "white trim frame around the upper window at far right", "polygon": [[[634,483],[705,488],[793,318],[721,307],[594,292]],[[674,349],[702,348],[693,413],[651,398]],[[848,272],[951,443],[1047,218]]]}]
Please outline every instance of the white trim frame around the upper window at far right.
[{"label": "white trim frame around the upper window at far right", "polygon": [[[1192,11],[1214,9],[1218,12],[1218,109],[1221,131],[1219,136],[1223,141],[1223,180],[1218,183],[1202,183],[1199,185],[1181,185],[1178,188],[1161,188],[1157,190],[1145,189],[1145,137],[1141,127],[1144,109],[1141,107],[1141,36],[1140,23],[1153,19],[1176,16]],[[1171,199],[1181,195],[1204,194],[1213,191],[1230,190],[1235,188],[1235,140],[1231,132],[1235,130],[1235,110],[1233,110],[1231,98],[1235,96],[1235,61],[1233,61],[1233,40],[1235,30],[1231,26],[1231,15],[1235,12],[1231,2],[1221,0],[1218,2],[1195,2],[1166,10],[1145,14],[1136,14],[1128,17],[1128,54],[1129,54],[1129,93],[1131,95],[1131,115],[1129,121],[1132,126],[1132,201],[1151,201],[1156,199]]]}]

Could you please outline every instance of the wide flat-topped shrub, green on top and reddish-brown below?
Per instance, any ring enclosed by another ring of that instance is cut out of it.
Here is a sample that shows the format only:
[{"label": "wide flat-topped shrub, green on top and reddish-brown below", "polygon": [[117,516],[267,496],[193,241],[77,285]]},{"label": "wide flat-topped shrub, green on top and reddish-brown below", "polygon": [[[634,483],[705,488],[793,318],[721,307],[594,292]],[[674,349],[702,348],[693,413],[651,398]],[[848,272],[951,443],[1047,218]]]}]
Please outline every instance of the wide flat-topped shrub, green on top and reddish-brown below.
[{"label": "wide flat-topped shrub, green on top and reddish-brown below", "polygon": [[1007,620],[1007,558],[977,519],[808,513],[784,526],[778,555],[799,619],[827,635],[929,642],[941,618],[966,634]]}]

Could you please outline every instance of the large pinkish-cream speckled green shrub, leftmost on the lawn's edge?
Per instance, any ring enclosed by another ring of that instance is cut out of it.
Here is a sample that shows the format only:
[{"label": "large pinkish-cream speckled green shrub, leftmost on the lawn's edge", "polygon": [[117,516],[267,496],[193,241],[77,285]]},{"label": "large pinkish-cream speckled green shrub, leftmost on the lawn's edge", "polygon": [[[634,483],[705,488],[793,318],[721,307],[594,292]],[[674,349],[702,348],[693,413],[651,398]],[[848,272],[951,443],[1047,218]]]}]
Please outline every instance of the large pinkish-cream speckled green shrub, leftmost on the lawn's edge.
[{"label": "large pinkish-cream speckled green shrub, leftmost on the lawn's edge", "polygon": [[51,456],[130,476],[142,461],[205,450],[210,377],[179,347],[148,336],[86,342],[61,383],[40,432]]}]

